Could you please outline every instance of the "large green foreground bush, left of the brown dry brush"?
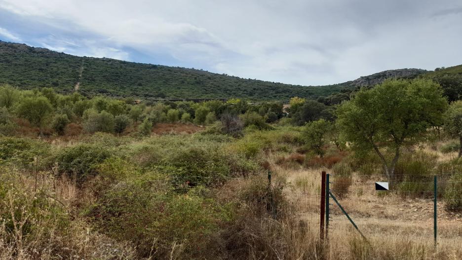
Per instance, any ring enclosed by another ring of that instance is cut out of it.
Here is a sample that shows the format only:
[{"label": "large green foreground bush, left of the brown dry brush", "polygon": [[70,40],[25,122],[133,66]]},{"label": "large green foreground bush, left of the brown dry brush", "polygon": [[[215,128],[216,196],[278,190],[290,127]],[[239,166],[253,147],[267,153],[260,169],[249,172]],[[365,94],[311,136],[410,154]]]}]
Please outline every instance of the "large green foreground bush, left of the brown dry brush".
[{"label": "large green foreground bush, left of the brown dry brush", "polygon": [[136,245],[140,257],[154,251],[156,258],[166,259],[174,243],[185,246],[185,258],[195,258],[200,251],[207,254],[214,248],[210,236],[218,228],[213,201],[193,192],[167,192],[163,179],[153,173],[118,182],[101,194],[86,215],[102,232]]}]

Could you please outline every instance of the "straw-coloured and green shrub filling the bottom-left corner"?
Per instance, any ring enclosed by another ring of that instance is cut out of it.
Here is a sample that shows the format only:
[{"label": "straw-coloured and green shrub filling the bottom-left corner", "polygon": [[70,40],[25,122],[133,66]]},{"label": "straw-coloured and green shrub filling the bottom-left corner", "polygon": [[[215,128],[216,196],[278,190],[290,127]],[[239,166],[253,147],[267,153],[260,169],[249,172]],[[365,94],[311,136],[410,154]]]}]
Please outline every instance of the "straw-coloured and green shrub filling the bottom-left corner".
[{"label": "straw-coloured and green shrub filling the bottom-left corner", "polygon": [[[77,249],[81,240],[73,238],[83,229],[76,223],[73,226],[66,208],[44,194],[42,189],[34,192],[18,172],[1,169],[0,252],[3,259],[54,259],[57,254],[63,259],[72,259],[76,254],[82,257],[82,251]],[[94,249],[87,248],[92,254],[96,253]],[[84,255],[90,257],[90,254]]]}]

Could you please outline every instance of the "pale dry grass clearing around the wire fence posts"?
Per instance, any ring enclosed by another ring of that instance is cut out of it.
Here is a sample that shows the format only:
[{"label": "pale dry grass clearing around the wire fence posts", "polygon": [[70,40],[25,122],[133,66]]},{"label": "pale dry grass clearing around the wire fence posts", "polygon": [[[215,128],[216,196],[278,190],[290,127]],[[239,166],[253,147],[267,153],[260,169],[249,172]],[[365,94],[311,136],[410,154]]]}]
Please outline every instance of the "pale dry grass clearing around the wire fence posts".
[{"label": "pale dry grass clearing around the wire fence posts", "polygon": [[[423,147],[423,150],[426,149],[428,148]],[[434,150],[431,153],[438,155],[438,161],[453,158]],[[316,216],[316,212],[307,204],[308,200],[300,197],[306,197],[307,193],[320,193],[321,171],[329,173],[331,170],[317,168],[319,165],[325,164],[314,164],[308,169],[275,168],[296,189],[295,192],[287,193],[287,196],[299,203],[299,211],[295,214],[300,219],[307,219],[307,214],[310,213]],[[345,180],[342,179],[337,178],[333,182],[344,183]],[[438,246],[435,252],[432,199],[403,198],[395,193],[378,193],[374,181],[381,181],[381,177],[371,176],[371,179],[364,179],[358,173],[353,173],[345,182],[349,188],[333,184],[334,189],[348,190],[338,196],[338,199],[369,242],[365,242],[358,235],[338,206],[333,205],[330,206],[329,248],[326,249],[328,253],[320,258],[310,256],[306,259],[462,259],[461,213],[444,211],[444,201],[438,201]],[[332,200],[331,203],[334,204]],[[318,239],[316,241],[319,242]],[[295,254],[287,259],[305,258]]]}]

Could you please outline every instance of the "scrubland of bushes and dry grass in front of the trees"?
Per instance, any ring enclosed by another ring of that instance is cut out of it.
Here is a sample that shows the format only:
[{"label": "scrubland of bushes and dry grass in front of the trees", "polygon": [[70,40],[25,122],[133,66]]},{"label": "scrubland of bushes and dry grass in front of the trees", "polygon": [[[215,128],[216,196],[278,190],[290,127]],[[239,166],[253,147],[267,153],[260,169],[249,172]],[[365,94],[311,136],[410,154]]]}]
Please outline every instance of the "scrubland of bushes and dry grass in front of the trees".
[{"label": "scrubland of bushes and dry grass in front of the trees", "polygon": [[[462,215],[452,208],[462,161],[451,139],[407,148],[393,190],[377,192],[384,175],[374,153],[329,143],[319,157],[303,127],[248,128],[238,138],[159,128],[148,137],[2,137],[0,259],[462,257]],[[321,171],[367,240],[337,205],[328,242],[319,238]]]}]

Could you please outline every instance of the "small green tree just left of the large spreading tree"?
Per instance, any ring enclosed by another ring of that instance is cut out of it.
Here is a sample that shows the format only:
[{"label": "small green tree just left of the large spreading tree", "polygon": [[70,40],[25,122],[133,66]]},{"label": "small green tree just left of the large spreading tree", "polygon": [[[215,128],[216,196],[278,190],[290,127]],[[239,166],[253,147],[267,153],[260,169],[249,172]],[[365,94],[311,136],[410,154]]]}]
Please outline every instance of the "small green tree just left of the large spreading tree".
[{"label": "small green tree just left of the large spreading tree", "polygon": [[323,147],[326,145],[326,136],[331,129],[332,124],[321,118],[309,122],[303,131],[303,136],[309,149],[314,150],[321,158],[324,156]]}]

